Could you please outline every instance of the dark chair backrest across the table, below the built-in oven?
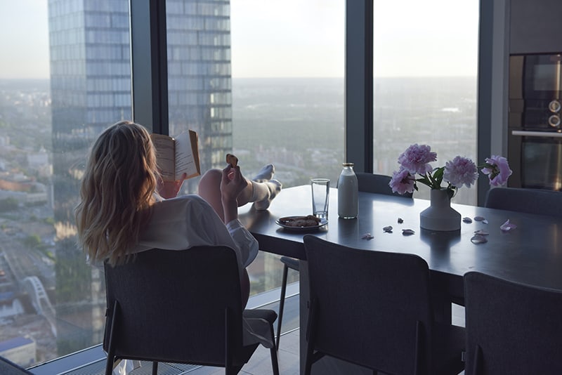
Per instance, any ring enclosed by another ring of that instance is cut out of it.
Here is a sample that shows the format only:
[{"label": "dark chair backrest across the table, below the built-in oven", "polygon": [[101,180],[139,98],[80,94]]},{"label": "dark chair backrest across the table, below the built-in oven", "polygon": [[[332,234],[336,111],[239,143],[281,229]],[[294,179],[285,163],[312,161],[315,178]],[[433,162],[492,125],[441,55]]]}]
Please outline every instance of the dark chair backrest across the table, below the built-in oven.
[{"label": "dark chair backrest across the table, below the built-in oven", "polygon": [[562,218],[562,192],[521,187],[494,187],[486,194],[485,206]]}]

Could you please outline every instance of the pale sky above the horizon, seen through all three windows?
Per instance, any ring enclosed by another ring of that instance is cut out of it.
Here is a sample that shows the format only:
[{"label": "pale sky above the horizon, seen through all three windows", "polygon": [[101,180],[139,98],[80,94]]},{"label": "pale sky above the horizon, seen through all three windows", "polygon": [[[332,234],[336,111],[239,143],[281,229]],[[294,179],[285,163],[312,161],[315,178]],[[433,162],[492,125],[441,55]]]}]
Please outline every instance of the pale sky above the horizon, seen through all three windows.
[{"label": "pale sky above the horizon, seen through all three windows", "polygon": [[[231,0],[233,77],[344,77],[344,0]],[[473,76],[478,1],[374,0],[374,75]],[[0,0],[0,79],[48,78],[47,0]]]}]

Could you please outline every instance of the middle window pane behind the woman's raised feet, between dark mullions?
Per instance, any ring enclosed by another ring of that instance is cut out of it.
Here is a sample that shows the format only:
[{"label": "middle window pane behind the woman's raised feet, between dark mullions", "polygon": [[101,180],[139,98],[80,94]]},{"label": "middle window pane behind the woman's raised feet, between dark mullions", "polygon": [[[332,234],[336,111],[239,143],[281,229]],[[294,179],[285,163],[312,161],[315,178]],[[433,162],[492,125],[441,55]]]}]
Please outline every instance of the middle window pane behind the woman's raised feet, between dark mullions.
[{"label": "middle window pane behind the woman's raised feet, between dark mullions", "polygon": [[[202,171],[223,168],[233,152],[250,178],[275,164],[284,188],[335,182],[344,161],[344,8],[343,0],[166,1],[170,133],[199,133]],[[196,187],[192,178],[183,192]],[[249,266],[251,293],[279,287],[281,270],[277,256],[261,253]]]}]

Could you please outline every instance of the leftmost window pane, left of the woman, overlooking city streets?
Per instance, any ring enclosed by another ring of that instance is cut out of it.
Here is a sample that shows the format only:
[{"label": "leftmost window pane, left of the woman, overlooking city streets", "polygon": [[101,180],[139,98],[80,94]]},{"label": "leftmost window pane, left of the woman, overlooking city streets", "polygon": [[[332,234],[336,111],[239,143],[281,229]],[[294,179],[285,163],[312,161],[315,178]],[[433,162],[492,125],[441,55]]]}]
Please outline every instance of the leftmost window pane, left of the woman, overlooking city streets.
[{"label": "leftmost window pane, left of the woman, overlooking city streets", "polygon": [[98,133],[131,118],[127,0],[1,6],[0,344],[21,364],[102,341],[103,274],[74,206]]}]

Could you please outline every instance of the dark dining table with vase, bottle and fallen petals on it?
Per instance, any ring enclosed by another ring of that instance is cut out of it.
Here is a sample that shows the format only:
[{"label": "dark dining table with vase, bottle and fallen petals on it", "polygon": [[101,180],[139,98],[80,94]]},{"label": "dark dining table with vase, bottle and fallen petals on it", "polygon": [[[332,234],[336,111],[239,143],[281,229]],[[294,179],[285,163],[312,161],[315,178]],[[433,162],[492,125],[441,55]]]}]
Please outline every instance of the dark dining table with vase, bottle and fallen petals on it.
[{"label": "dark dining table with vase, bottle and fallen petals on it", "polygon": [[[471,270],[562,290],[562,221],[559,218],[452,204],[463,218],[482,216],[488,223],[472,221],[462,223],[457,232],[431,232],[419,228],[419,212],[427,206],[429,201],[425,199],[360,192],[358,218],[344,220],[337,216],[337,190],[331,189],[325,227],[310,233],[285,230],[275,223],[278,218],[307,215],[312,211],[311,187],[303,185],[282,190],[268,211],[253,211],[250,205],[242,207],[240,218],[258,239],[262,251],[302,261],[306,261],[305,234],[358,249],[417,254],[428,263],[432,279],[447,301],[462,304],[462,276]],[[403,223],[398,223],[398,218],[402,218]],[[517,228],[503,232],[499,227],[508,219]],[[393,227],[391,233],[383,231],[388,225]],[[403,235],[403,229],[412,229],[414,234]],[[476,230],[488,232],[488,242],[473,244],[471,237]],[[374,238],[363,239],[366,233]],[[301,267],[300,272],[300,300],[300,327],[303,328],[307,320],[303,312],[308,304],[306,266]],[[450,303],[448,311],[444,304],[440,313],[443,319],[449,318]],[[301,363],[304,336],[302,333]]]}]

